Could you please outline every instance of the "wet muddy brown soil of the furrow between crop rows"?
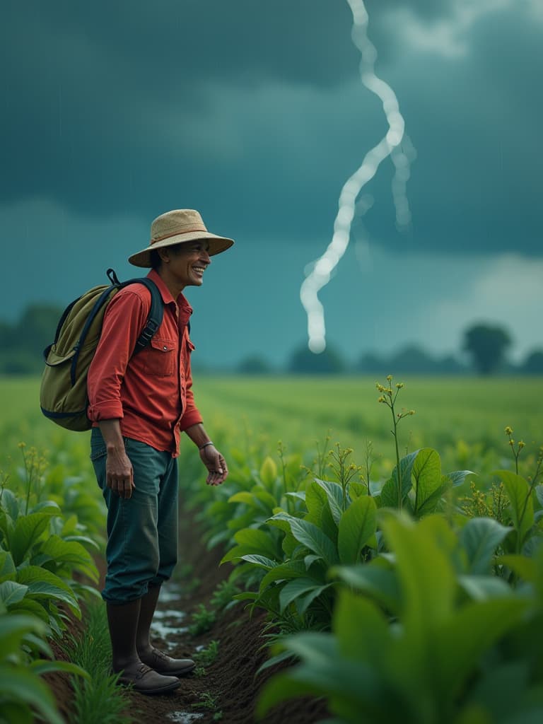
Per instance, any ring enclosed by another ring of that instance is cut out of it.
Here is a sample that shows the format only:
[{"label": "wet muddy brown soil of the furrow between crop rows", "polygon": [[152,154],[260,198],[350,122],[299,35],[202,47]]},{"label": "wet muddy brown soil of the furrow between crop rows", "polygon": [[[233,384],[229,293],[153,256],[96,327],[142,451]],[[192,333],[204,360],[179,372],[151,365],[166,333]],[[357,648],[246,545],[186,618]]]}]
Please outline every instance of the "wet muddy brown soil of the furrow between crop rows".
[{"label": "wet muddy brown soil of the furrow between crop rows", "polygon": [[[181,516],[179,570],[191,569],[193,574],[175,577],[163,586],[155,620],[153,644],[173,657],[191,657],[206,647],[209,641],[219,641],[219,654],[205,675],[190,673],[182,678],[179,689],[162,696],[127,694],[128,709],[136,724],[195,723],[254,724],[254,709],[261,686],[278,668],[266,670],[258,677],[258,668],[267,660],[262,649],[265,613],[256,612],[252,618],[243,603],[219,615],[210,631],[192,636],[188,631],[192,614],[209,599],[217,584],[224,581],[230,564],[219,566],[223,552],[211,551],[201,542],[201,529],[194,515],[185,511]],[[195,579],[194,576],[198,576]],[[279,667],[280,668],[280,667]],[[70,686],[63,675],[51,675],[48,683],[64,715],[70,710]],[[211,708],[202,707],[203,700],[214,699]],[[327,717],[322,699],[300,698],[281,704],[272,710],[262,724],[315,724]]]}]

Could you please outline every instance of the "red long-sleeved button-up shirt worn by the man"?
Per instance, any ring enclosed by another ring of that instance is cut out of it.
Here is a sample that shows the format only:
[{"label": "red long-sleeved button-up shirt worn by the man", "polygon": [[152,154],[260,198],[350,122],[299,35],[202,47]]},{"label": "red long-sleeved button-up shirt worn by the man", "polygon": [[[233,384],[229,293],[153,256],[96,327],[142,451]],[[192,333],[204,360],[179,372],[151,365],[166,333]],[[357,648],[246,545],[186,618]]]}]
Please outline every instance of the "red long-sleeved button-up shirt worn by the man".
[{"label": "red long-sleeved button-up shirt worn by the man", "polygon": [[202,421],[194,403],[188,337],[192,307],[180,294],[174,300],[151,270],[164,300],[164,319],[151,343],[132,355],[151,309],[151,294],[141,284],[119,290],[109,302],[98,348],[87,379],[88,416],[119,418],[124,437],[179,455],[180,433]]}]

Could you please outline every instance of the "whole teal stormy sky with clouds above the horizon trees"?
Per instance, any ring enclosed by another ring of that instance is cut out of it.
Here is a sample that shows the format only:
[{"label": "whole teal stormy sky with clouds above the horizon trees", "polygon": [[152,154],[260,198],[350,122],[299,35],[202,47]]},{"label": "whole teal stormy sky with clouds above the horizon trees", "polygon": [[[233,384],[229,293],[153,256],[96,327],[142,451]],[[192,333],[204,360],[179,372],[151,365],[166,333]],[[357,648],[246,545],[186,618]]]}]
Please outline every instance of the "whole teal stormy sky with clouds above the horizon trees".
[{"label": "whole teal stormy sky with clouds above the horizon trees", "polygon": [[[521,359],[543,347],[543,2],[366,9],[416,152],[412,222],[397,228],[384,161],[320,294],[327,339],[350,359],[454,353],[489,321]],[[0,15],[4,319],[109,266],[140,274],[127,256],[152,219],[195,208],[236,240],[187,292],[201,361],[285,361],[342,185],[387,132],[347,0],[4,0]]]}]

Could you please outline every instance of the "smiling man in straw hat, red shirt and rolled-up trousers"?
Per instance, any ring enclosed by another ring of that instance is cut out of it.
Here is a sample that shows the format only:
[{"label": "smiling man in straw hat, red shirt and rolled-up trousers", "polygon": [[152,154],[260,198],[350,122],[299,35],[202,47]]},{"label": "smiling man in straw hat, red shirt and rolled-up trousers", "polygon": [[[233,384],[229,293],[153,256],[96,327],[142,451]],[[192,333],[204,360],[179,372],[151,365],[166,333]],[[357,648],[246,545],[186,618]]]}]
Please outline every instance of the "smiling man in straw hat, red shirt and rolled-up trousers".
[{"label": "smiling man in straw hat, red shirt and rolled-up trousers", "polygon": [[160,586],[177,561],[177,455],[181,432],[198,446],[207,483],[219,485],[227,464],[194,403],[188,335],[192,308],[182,291],[202,285],[211,256],[231,239],[211,234],[198,211],[162,214],[151,243],[130,256],[152,267],[164,319],[151,343],[132,355],[146,324],[151,294],[127,285],[112,298],[88,373],[91,459],[108,508],[106,601],[113,670],[142,694],[180,686],[194,668],[151,646],[149,630]]}]

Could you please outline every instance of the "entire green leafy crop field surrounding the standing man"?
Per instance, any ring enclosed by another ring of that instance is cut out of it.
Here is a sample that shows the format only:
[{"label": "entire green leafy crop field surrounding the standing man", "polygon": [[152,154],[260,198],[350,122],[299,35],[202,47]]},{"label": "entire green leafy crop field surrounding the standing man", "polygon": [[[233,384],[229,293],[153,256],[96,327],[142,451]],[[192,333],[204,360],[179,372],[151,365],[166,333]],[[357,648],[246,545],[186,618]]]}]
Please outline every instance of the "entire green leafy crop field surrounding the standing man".
[{"label": "entire green leafy crop field surrounding the standing man", "polygon": [[[90,660],[76,649],[68,661],[39,657],[65,628],[51,597],[80,615],[88,587],[74,573],[96,584],[90,552],[105,546],[89,434],[46,420],[39,386],[0,379],[0,668],[33,673],[26,699],[11,684],[0,694],[17,708],[10,722],[37,708],[61,724],[43,667],[87,672],[92,711],[95,686],[106,681],[107,701],[117,689],[105,648],[100,661],[94,647]],[[204,485],[183,439],[183,513],[196,511],[201,550],[222,547],[233,569],[200,600],[193,626],[205,616],[218,636],[219,600],[266,610],[280,633],[264,666],[285,654],[299,665],[261,685],[261,714],[301,692],[324,696],[342,724],[541,720],[543,379],[203,375],[195,397],[230,476]],[[107,643],[104,615],[95,624],[93,640]],[[256,657],[262,638],[249,644]],[[211,678],[201,686],[218,707]],[[221,700],[225,721],[237,699]],[[520,718],[501,717],[505,699]]]}]

